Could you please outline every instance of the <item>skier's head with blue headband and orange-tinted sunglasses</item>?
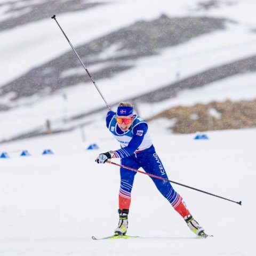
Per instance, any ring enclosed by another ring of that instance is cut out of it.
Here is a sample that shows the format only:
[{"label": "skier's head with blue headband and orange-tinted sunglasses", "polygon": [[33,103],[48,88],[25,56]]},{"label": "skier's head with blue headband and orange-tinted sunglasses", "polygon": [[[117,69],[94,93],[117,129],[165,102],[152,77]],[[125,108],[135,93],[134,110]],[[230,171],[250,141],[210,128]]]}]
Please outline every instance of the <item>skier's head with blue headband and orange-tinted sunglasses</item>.
[{"label": "skier's head with blue headband and orange-tinted sunglasses", "polygon": [[122,131],[128,131],[133,122],[133,105],[120,102],[116,111],[116,122]]}]

